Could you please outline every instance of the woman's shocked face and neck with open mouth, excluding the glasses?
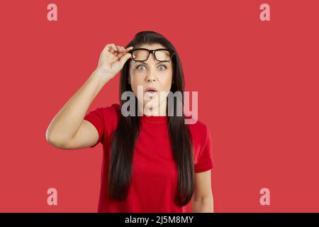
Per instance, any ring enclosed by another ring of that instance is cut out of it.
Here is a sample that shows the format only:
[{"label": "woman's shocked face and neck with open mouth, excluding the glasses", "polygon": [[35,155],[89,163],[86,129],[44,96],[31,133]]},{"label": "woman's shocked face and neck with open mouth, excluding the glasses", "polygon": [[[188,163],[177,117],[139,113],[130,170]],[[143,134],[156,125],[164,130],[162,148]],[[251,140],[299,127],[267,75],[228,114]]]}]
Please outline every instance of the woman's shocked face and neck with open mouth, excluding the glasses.
[{"label": "woman's shocked face and neck with open mouth, excluding the glasses", "polygon": [[[155,50],[165,47],[160,44],[145,44],[135,48]],[[135,62],[133,59],[130,61],[128,81],[138,101],[143,104],[144,114],[166,115],[167,94],[172,87],[172,77],[172,60],[159,62],[150,53],[144,62]],[[148,89],[154,89],[155,92],[147,92]]]}]

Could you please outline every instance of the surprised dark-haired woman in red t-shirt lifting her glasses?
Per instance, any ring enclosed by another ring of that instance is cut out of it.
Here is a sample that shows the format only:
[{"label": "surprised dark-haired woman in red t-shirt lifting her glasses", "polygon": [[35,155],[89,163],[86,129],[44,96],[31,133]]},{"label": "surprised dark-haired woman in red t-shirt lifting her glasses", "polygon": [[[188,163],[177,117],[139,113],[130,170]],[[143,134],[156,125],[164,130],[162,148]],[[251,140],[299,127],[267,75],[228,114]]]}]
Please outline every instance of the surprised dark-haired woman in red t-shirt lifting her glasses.
[{"label": "surprised dark-haired woman in red t-shirt lifting her glasses", "polygon": [[[86,114],[120,70],[120,104]],[[123,114],[124,92],[134,94],[135,106],[128,108],[133,114]],[[174,116],[168,114],[162,92],[184,94],[179,55],[164,36],[142,31],[126,48],[106,45],[96,70],[48,126],[47,141],[56,148],[102,143],[98,212],[213,212],[210,131],[200,121],[186,124],[177,99]]]}]

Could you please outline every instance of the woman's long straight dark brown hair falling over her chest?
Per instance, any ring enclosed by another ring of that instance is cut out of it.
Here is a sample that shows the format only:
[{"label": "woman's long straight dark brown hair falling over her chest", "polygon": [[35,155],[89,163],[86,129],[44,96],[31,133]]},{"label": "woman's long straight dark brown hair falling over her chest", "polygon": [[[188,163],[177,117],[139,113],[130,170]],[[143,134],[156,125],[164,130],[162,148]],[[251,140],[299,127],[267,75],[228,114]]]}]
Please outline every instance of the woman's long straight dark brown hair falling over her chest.
[{"label": "woman's long straight dark brown hair falling over her chest", "polygon": [[[133,40],[125,48],[143,44],[159,43],[165,48],[174,50],[172,56],[173,79],[171,92],[181,92],[184,107],[184,73],[181,61],[172,43],[163,35],[154,31],[142,31],[137,33]],[[131,59],[130,59],[131,60]],[[121,100],[123,92],[133,92],[128,84],[130,60],[125,62],[121,70],[119,99],[121,108],[125,100]],[[135,104],[138,100],[135,97]],[[135,106],[135,110],[138,109]],[[184,108],[183,108],[184,109]],[[178,170],[178,187],[175,201],[179,206],[185,206],[191,200],[194,193],[194,156],[191,143],[191,133],[186,126],[184,111],[182,116],[177,116],[177,100],[174,99],[174,116],[168,117],[169,138],[172,147],[174,161]],[[122,201],[128,195],[133,167],[133,150],[140,131],[140,117],[123,116],[120,114],[118,126],[111,138],[111,161],[108,171],[108,193],[111,199]]]}]

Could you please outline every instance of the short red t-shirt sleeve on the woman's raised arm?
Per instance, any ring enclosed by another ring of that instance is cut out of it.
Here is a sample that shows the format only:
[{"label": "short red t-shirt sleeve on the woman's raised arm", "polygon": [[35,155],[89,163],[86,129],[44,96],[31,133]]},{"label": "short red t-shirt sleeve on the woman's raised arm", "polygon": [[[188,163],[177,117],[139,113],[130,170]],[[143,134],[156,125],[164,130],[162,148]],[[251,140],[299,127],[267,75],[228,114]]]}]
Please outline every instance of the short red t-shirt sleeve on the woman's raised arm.
[{"label": "short red t-shirt sleeve on the woman's raised arm", "polygon": [[94,125],[96,130],[99,133],[99,140],[94,145],[91,145],[90,148],[94,148],[98,143],[101,142],[101,138],[104,134],[104,121],[103,121],[103,111],[102,108],[97,108],[94,111],[90,111],[84,116],[84,120],[89,121]]}]

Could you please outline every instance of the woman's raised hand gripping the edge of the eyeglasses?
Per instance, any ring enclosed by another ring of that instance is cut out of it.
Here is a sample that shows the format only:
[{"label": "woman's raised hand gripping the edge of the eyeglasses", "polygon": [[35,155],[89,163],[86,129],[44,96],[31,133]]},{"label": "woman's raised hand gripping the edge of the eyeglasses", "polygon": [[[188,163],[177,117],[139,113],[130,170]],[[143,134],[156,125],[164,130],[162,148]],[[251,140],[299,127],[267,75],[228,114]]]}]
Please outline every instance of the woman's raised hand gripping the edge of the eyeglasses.
[{"label": "woman's raised hand gripping the edge of the eyeglasses", "polygon": [[123,68],[125,62],[132,57],[128,52],[132,49],[132,46],[125,49],[123,46],[114,43],[106,44],[101,52],[95,72],[103,79],[112,79]]}]

